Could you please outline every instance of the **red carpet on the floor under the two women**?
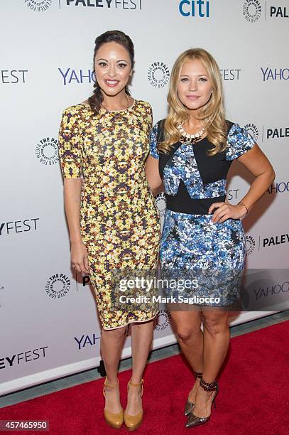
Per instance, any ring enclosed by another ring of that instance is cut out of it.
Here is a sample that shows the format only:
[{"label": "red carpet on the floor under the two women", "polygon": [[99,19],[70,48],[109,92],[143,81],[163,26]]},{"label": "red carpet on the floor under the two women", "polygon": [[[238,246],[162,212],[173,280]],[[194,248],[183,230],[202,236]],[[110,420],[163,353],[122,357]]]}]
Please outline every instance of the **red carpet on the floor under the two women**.
[{"label": "red carpet on the floor under the two women", "polygon": [[[137,434],[251,435],[288,434],[289,321],[232,338],[227,364],[219,377],[217,409],[209,423],[185,429],[182,409],[192,375],[180,355],[148,364]],[[131,372],[119,375],[122,397]],[[87,382],[0,409],[0,419],[43,419],[50,434],[124,434],[109,429],[102,417],[103,380]],[[126,403],[123,400],[123,405]],[[36,431],[13,434],[34,433]],[[43,432],[42,432],[43,433]]]}]

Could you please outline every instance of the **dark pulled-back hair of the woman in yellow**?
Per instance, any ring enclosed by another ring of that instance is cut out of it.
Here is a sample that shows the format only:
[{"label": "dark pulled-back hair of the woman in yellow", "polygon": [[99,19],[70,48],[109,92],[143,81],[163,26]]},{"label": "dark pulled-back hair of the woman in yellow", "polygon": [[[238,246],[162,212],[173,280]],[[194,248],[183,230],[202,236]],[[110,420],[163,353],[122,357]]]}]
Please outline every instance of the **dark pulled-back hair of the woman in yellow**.
[{"label": "dark pulled-back hair of the woman in yellow", "polygon": [[[124,32],[121,31],[108,31],[102,33],[102,35],[97,36],[95,40],[95,47],[94,47],[93,65],[94,65],[95,56],[97,55],[97,50],[99,50],[102,44],[108,42],[115,42],[122,45],[124,48],[126,48],[126,50],[129,52],[129,58],[131,59],[131,68],[133,68],[133,63],[134,63],[133,42],[131,41],[131,38],[129,38],[129,36],[127,36]],[[93,87],[95,89],[93,91],[93,95],[89,97],[88,102],[93,112],[96,112],[98,114],[102,102],[104,100],[104,97],[102,96],[102,92],[100,90],[99,84],[97,83],[97,80],[95,81]],[[131,92],[129,92],[129,88],[127,86],[126,86],[126,94],[131,95]]]}]

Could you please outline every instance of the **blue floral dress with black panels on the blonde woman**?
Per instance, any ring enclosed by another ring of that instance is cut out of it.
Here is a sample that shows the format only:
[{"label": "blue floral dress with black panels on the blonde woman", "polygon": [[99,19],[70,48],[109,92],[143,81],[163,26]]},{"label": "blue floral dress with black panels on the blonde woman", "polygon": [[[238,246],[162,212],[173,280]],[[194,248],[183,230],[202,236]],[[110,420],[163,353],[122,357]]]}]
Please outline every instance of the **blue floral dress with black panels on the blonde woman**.
[{"label": "blue floral dress with black panels on the blonde woman", "polygon": [[214,156],[205,137],[196,144],[180,141],[169,154],[158,152],[163,121],[151,131],[151,156],[158,159],[167,208],[160,242],[163,276],[188,279],[187,289],[167,288],[173,302],[231,306],[239,299],[244,272],[245,237],[241,220],[212,222],[212,203],[226,200],[227,173],[234,159],[255,144],[239,124],[227,122],[227,149]]}]

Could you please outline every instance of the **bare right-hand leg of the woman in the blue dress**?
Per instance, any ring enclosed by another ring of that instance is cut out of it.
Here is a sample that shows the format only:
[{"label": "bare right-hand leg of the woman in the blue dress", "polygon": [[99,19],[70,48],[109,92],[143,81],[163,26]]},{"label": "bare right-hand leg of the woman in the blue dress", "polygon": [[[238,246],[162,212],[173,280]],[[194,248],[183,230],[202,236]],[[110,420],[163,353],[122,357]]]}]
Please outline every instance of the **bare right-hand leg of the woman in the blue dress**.
[{"label": "bare right-hand leg of the woman in the blue dress", "polygon": [[[214,308],[202,311],[204,318],[204,369],[203,380],[213,382],[222,367],[229,348],[230,332],[228,325],[229,311]],[[211,413],[212,399],[216,392],[207,392],[197,388],[193,414],[208,417]]]}]

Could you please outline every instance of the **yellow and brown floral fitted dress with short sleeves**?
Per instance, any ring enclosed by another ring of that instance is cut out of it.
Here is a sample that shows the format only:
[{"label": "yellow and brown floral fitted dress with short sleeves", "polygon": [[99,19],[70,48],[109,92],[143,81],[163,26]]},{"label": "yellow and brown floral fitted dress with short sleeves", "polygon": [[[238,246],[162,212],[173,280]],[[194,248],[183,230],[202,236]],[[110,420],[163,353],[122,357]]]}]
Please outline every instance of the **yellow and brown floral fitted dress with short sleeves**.
[{"label": "yellow and brown floral fitted dress with short sleeves", "polygon": [[160,222],[144,171],[151,127],[151,106],[140,100],[99,114],[81,103],[62,114],[60,165],[64,178],[83,179],[80,230],[104,329],[158,313],[156,304],[131,311],[111,301],[112,270],[155,269],[158,261]]}]

